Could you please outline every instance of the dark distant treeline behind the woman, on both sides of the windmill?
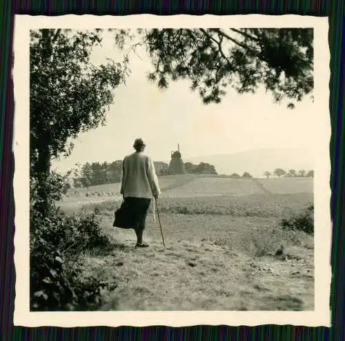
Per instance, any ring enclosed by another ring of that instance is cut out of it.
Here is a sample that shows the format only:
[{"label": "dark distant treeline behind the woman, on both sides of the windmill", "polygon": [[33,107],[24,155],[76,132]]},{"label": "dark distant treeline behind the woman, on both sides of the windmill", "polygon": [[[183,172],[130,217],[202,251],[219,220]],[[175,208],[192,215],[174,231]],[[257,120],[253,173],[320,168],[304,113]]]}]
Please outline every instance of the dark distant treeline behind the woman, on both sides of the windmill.
[{"label": "dark distant treeline behind the woman, on both sides of the windmill", "polygon": [[[168,163],[155,161],[157,176],[170,175]],[[209,163],[185,163],[186,171],[189,174],[216,174],[215,167]],[[122,174],[122,160],[112,163],[93,162],[79,165],[73,174],[72,184],[74,187],[90,187],[104,185],[106,183],[119,183]]]}]

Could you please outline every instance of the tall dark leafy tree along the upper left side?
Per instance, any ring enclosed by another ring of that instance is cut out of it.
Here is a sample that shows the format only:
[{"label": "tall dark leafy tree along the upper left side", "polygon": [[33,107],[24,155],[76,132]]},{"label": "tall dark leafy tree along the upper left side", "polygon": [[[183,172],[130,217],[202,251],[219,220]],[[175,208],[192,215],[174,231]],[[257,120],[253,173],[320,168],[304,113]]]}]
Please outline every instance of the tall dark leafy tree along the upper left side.
[{"label": "tall dark leafy tree along the upper left side", "polygon": [[90,64],[95,32],[30,32],[30,178],[37,179],[36,209],[48,209],[47,178],[52,158],[69,155],[69,138],[105,122],[112,90],[124,80],[117,63]]}]

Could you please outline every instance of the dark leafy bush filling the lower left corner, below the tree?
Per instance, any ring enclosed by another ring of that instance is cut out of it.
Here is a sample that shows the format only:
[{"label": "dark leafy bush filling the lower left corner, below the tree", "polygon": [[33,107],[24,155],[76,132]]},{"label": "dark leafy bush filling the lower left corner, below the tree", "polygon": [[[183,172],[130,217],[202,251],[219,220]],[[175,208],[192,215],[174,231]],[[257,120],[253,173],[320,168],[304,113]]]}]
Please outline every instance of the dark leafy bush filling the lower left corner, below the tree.
[{"label": "dark leafy bush filling the lower left corner, below the tree", "polygon": [[110,242],[97,215],[68,216],[50,204],[43,217],[34,209],[37,191],[34,182],[30,185],[30,309],[71,311],[97,305],[101,282],[82,276],[80,267],[84,251]]}]

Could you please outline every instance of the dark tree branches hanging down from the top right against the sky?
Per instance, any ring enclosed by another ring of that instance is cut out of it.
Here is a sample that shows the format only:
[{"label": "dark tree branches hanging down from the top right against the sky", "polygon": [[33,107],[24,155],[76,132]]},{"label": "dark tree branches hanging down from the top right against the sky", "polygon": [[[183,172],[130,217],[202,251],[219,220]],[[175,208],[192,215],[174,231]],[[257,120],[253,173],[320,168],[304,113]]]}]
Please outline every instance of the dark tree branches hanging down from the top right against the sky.
[{"label": "dark tree branches hanging down from the top right against the sky", "polygon": [[[259,85],[283,99],[313,92],[312,28],[209,28],[138,30],[158,87],[189,79],[204,103],[219,103],[228,86],[254,93]],[[311,95],[313,98],[313,96]],[[290,102],[291,109],[295,105]]]}]

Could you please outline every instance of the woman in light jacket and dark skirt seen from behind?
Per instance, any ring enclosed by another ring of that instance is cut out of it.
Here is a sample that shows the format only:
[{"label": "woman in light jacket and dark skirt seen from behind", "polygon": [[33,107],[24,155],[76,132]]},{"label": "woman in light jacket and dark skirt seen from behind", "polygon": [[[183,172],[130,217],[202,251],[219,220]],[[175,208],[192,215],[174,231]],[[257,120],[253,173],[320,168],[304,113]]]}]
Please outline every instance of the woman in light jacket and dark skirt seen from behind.
[{"label": "woman in light jacket and dark skirt seen from behind", "polygon": [[132,217],[132,227],[137,235],[136,247],[148,247],[143,242],[146,215],[152,196],[157,198],[160,189],[153,160],[144,154],[144,141],[137,138],[133,147],[135,152],[126,156],[122,163],[120,193]]}]

